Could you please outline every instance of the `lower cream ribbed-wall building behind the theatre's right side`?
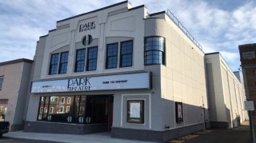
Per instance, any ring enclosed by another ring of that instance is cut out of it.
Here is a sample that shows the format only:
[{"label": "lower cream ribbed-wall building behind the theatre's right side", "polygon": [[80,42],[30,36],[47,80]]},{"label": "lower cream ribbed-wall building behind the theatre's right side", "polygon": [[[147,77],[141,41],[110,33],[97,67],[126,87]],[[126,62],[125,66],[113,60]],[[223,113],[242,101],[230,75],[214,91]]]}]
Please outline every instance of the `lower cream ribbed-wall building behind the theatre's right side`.
[{"label": "lower cream ribbed-wall building behind the theatre's right side", "polygon": [[206,54],[207,92],[211,127],[233,128],[248,120],[243,84],[219,53]]}]

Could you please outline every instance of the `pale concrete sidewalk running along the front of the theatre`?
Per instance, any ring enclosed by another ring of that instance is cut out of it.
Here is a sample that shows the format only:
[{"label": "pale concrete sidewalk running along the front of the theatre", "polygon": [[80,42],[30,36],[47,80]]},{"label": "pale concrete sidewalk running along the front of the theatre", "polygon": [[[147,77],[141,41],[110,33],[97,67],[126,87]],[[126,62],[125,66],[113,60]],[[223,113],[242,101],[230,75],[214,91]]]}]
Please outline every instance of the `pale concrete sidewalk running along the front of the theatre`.
[{"label": "pale concrete sidewalk running along the front of the theatre", "polygon": [[10,132],[2,135],[3,137],[35,140],[35,141],[49,141],[59,143],[150,143],[148,141],[133,141],[110,137],[110,133],[94,133],[86,135],[71,135],[71,134],[57,134],[57,133],[25,133],[23,131]]}]

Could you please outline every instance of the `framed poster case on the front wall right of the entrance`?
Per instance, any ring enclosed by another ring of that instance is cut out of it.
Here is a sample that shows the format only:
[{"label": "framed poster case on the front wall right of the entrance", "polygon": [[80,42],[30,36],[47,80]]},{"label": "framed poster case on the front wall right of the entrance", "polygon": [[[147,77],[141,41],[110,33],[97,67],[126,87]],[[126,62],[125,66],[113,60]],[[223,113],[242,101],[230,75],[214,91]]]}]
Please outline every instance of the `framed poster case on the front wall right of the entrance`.
[{"label": "framed poster case on the front wall right of the entrance", "polygon": [[127,122],[144,123],[144,100],[127,101]]}]

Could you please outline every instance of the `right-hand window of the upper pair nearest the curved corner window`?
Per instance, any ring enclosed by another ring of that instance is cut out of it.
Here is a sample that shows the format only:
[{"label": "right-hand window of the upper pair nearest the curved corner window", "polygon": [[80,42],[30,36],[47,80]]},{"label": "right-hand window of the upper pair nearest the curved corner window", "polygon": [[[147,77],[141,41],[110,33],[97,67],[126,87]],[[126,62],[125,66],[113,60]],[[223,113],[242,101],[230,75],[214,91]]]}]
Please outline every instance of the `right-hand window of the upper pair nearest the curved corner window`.
[{"label": "right-hand window of the upper pair nearest the curved corner window", "polygon": [[133,41],[121,42],[120,67],[132,66]]}]

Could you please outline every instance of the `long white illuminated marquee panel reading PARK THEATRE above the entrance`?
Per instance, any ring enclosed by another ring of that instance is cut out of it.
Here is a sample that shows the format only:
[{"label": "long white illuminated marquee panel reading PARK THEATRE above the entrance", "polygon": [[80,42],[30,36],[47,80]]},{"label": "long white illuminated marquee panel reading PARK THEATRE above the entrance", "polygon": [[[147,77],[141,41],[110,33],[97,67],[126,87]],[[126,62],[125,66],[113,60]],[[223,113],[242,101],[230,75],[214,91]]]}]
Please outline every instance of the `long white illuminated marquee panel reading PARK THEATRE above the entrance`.
[{"label": "long white illuminated marquee panel reading PARK THEATRE above the entrance", "polygon": [[110,89],[150,89],[150,72],[98,77],[77,77],[55,81],[34,81],[31,93],[76,92]]}]

